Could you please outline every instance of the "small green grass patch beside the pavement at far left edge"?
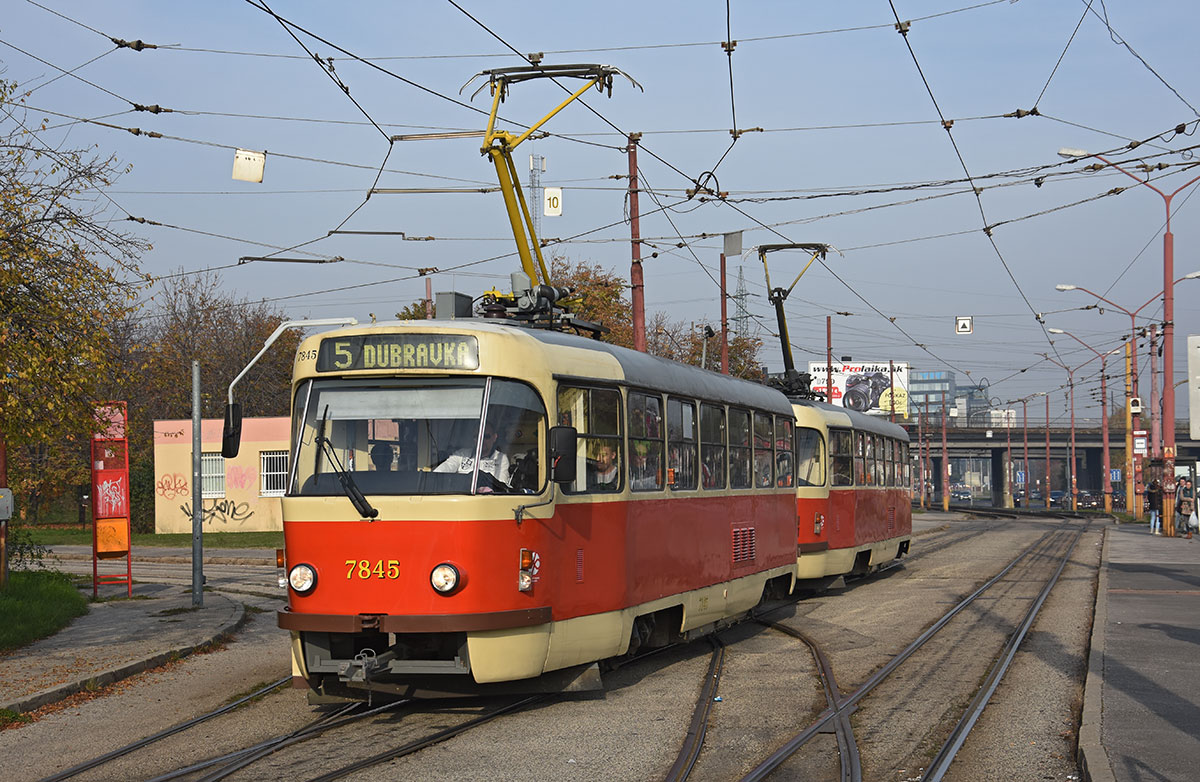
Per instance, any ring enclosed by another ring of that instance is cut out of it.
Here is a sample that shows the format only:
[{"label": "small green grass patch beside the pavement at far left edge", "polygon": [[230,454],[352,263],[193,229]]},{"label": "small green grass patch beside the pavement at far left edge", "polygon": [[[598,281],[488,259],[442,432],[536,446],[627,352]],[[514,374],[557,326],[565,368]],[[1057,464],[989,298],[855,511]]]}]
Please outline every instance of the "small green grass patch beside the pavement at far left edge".
[{"label": "small green grass patch beside the pavement at far left edge", "polygon": [[88,598],[62,573],[13,571],[0,591],[0,651],[53,636],[88,613]]}]

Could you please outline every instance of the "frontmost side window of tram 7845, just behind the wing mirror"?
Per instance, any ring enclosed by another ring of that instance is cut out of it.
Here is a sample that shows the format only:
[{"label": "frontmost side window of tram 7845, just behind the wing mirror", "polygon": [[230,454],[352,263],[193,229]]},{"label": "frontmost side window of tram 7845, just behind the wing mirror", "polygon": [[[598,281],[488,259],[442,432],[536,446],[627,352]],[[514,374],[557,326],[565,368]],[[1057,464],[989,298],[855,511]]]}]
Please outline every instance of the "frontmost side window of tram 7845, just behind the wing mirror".
[{"label": "frontmost side window of tram 7845, just behind the wing mirror", "polygon": [[568,493],[620,491],[620,392],[616,389],[563,386],[558,390],[558,422],[578,433],[576,479]]}]

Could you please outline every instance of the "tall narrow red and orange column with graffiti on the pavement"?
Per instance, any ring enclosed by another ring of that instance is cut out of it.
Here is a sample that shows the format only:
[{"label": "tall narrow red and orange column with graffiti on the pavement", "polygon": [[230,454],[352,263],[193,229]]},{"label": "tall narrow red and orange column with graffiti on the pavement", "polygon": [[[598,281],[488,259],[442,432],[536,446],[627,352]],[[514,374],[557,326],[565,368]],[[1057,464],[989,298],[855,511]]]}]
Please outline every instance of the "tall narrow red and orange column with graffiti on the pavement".
[{"label": "tall narrow red and orange column with graffiti on the pavement", "polygon": [[[97,432],[91,439],[91,595],[101,584],[125,584],[133,596],[130,529],[130,450],[125,402],[96,404]],[[125,558],[125,573],[100,573],[100,560]]]}]

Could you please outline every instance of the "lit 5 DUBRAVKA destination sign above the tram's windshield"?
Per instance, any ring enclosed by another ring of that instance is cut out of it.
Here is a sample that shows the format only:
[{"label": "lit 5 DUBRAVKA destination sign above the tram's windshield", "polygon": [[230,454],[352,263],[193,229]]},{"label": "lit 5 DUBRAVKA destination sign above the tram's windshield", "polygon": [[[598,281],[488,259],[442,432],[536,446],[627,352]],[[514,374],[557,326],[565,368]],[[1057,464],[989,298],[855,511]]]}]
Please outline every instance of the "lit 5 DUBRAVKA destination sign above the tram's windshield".
[{"label": "lit 5 DUBRAVKA destination sign above the tram's windshield", "polygon": [[479,341],[449,333],[379,333],[320,341],[317,372],[478,369]]}]

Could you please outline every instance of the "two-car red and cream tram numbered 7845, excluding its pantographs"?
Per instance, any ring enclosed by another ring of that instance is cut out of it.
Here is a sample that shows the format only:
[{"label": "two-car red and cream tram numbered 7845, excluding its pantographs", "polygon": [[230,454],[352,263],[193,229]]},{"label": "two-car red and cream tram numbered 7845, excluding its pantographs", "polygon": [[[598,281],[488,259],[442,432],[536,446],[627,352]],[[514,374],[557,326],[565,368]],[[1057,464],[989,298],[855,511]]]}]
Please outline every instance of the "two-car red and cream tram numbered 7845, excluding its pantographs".
[{"label": "two-car red and cream tram numbered 7845, excluding its pantographs", "polygon": [[907,548],[902,429],[594,339],[342,329],[293,395],[278,624],[314,699],[596,687]]}]

